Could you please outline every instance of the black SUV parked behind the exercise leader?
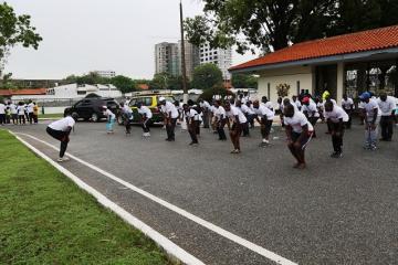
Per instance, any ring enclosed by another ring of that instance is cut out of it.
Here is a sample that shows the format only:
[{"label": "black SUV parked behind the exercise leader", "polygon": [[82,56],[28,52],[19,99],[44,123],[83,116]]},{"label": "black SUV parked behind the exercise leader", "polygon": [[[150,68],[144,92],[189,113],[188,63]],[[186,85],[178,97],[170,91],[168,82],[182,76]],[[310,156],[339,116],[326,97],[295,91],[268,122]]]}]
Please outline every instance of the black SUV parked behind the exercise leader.
[{"label": "black SUV parked behind the exercise leader", "polygon": [[80,119],[100,121],[102,118],[105,118],[102,109],[103,106],[106,106],[108,109],[111,109],[111,112],[116,115],[116,118],[118,117],[121,109],[118,103],[113,98],[103,97],[83,98],[72,107],[65,108],[64,116],[66,113],[75,113]]}]

